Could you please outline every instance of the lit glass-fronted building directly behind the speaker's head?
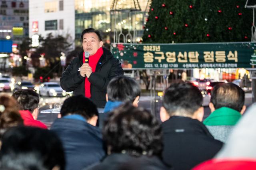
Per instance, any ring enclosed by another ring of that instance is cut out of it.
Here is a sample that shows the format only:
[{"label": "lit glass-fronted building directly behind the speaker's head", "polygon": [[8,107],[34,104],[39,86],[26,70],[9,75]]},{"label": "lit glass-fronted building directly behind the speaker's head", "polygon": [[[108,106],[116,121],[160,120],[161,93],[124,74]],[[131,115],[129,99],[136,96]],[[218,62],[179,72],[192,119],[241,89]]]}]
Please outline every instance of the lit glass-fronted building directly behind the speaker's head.
[{"label": "lit glass-fronted building directly behind the speaker's head", "polygon": [[[121,39],[130,31],[135,40],[133,42],[139,42],[143,35],[142,26],[146,22],[150,2],[151,0],[75,0],[76,45],[80,44],[82,30],[90,27],[101,30],[106,42],[113,42],[114,30],[117,31],[116,36],[121,35]],[[132,42],[129,36],[126,38],[125,42]]]}]

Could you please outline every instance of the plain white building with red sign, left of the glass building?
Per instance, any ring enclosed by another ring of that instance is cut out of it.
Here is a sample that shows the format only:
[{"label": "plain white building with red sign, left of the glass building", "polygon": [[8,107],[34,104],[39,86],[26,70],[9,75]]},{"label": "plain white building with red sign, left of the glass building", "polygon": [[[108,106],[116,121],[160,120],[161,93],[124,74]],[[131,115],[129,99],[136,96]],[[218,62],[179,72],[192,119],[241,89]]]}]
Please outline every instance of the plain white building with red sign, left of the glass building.
[{"label": "plain white building with red sign, left of the glass building", "polygon": [[[29,0],[29,37],[38,46],[38,37],[62,35],[75,38],[74,0]],[[74,45],[73,45],[74,48]]]}]

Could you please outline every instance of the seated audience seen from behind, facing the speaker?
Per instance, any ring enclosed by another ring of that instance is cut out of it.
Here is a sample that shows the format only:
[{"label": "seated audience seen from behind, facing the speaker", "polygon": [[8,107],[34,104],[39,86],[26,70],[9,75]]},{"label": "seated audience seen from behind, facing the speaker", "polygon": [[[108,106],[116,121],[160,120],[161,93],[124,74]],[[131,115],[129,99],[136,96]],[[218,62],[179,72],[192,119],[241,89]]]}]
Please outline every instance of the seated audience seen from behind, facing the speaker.
[{"label": "seated audience seen from behind, facing the speaker", "polygon": [[48,129],[37,121],[35,91],[1,95],[0,170],[256,168],[256,106],[245,112],[237,85],[214,87],[212,113],[204,121],[202,93],[191,83],[172,83],[164,91],[161,120],[138,107],[141,91],[134,79],[114,77],[106,89],[103,113],[74,95]]}]

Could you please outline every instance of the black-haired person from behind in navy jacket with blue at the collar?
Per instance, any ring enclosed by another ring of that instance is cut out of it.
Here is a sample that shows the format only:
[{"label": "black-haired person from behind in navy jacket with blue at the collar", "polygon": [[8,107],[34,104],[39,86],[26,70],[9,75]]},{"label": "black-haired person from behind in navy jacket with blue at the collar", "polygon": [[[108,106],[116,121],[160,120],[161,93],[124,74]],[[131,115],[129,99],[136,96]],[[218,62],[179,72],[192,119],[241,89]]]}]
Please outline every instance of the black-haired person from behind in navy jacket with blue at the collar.
[{"label": "black-haired person from behind in navy jacket with blue at the collar", "polygon": [[66,170],[82,170],[105,156],[102,134],[96,127],[98,110],[90,99],[72,96],[66,99],[51,130],[63,143]]}]

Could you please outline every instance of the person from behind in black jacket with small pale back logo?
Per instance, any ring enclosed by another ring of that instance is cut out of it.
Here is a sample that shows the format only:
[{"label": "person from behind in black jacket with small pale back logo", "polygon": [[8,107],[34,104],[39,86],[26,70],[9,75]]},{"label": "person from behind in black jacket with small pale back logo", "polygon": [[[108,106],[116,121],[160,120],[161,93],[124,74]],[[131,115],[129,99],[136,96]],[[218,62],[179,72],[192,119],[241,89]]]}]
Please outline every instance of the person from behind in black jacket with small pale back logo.
[{"label": "person from behind in black jacket with small pale back logo", "polygon": [[201,123],[203,97],[191,83],[173,83],[164,92],[160,109],[163,160],[175,170],[189,170],[211,159],[222,147]]}]

